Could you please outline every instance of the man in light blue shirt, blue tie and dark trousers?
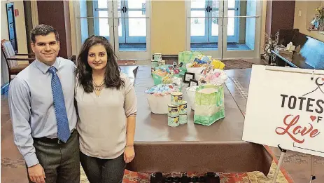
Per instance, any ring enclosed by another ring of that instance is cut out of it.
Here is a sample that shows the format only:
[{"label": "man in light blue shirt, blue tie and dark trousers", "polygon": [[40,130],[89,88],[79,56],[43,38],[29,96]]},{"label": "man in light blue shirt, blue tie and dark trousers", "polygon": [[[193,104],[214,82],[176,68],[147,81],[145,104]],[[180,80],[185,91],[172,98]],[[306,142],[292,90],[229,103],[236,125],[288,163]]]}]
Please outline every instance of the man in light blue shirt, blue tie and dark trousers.
[{"label": "man in light blue shirt, blue tie and dark trousers", "polygon": [[48,25],[31,30],[36,60],[10,82],[14,141],[29,182],[79,183],[79,142],[71,60],[57,57],[59,34]]}]

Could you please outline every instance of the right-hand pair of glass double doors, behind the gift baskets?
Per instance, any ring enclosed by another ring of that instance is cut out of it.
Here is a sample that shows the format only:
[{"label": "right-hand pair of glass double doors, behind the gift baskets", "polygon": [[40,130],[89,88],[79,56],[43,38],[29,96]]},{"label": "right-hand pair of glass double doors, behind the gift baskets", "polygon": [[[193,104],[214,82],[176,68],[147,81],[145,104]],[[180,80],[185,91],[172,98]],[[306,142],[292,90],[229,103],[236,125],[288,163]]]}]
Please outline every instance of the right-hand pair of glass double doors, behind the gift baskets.
[{"label": "right-hand pair of glass double doors, behind the gift baskets", "polygon": [[187,50],[219,59],[260,57],[261,2],[188,1]]}]

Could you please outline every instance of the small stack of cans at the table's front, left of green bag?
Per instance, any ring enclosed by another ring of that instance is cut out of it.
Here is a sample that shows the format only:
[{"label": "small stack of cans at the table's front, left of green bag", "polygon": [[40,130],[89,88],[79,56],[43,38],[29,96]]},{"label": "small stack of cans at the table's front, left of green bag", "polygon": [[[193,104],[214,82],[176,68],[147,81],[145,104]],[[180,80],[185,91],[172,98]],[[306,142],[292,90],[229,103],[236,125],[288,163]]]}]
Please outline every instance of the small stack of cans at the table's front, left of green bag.
[{"label": "small stack of cans at the table's front, left of green bag", "polygon": [[171,93],[171,104],[169,104],[168,126],[179,126],[188,121],[187,101],[182,100],[183,93]]}]

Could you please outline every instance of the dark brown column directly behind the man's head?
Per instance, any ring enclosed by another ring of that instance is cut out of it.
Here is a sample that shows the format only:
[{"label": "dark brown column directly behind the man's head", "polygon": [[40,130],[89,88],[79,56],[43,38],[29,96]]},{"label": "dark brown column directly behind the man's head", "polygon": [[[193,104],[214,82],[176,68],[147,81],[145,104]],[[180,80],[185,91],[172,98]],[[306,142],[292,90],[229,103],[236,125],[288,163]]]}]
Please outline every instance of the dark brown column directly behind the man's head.
[{"label": "dark brown column directly behind the man's head", "polygon": [[59,56],[72,55],[69,1],[37,1],[38,24],[51,25],[59,32]]}]

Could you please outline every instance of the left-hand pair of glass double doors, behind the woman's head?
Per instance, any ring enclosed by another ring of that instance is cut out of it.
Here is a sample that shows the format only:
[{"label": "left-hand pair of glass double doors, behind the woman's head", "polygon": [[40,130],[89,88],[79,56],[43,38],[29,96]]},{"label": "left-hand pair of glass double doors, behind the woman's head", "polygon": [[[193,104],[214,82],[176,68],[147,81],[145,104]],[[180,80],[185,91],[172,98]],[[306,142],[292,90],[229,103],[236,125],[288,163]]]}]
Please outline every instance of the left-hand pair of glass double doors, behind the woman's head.
[{"label": "left-hand pair of glass double doors, behind the woman's head", "polygon": [[105,36],[120,60],[150,59],[150,6],[146,0],[73,1],[76,48],[90,35]]}]

